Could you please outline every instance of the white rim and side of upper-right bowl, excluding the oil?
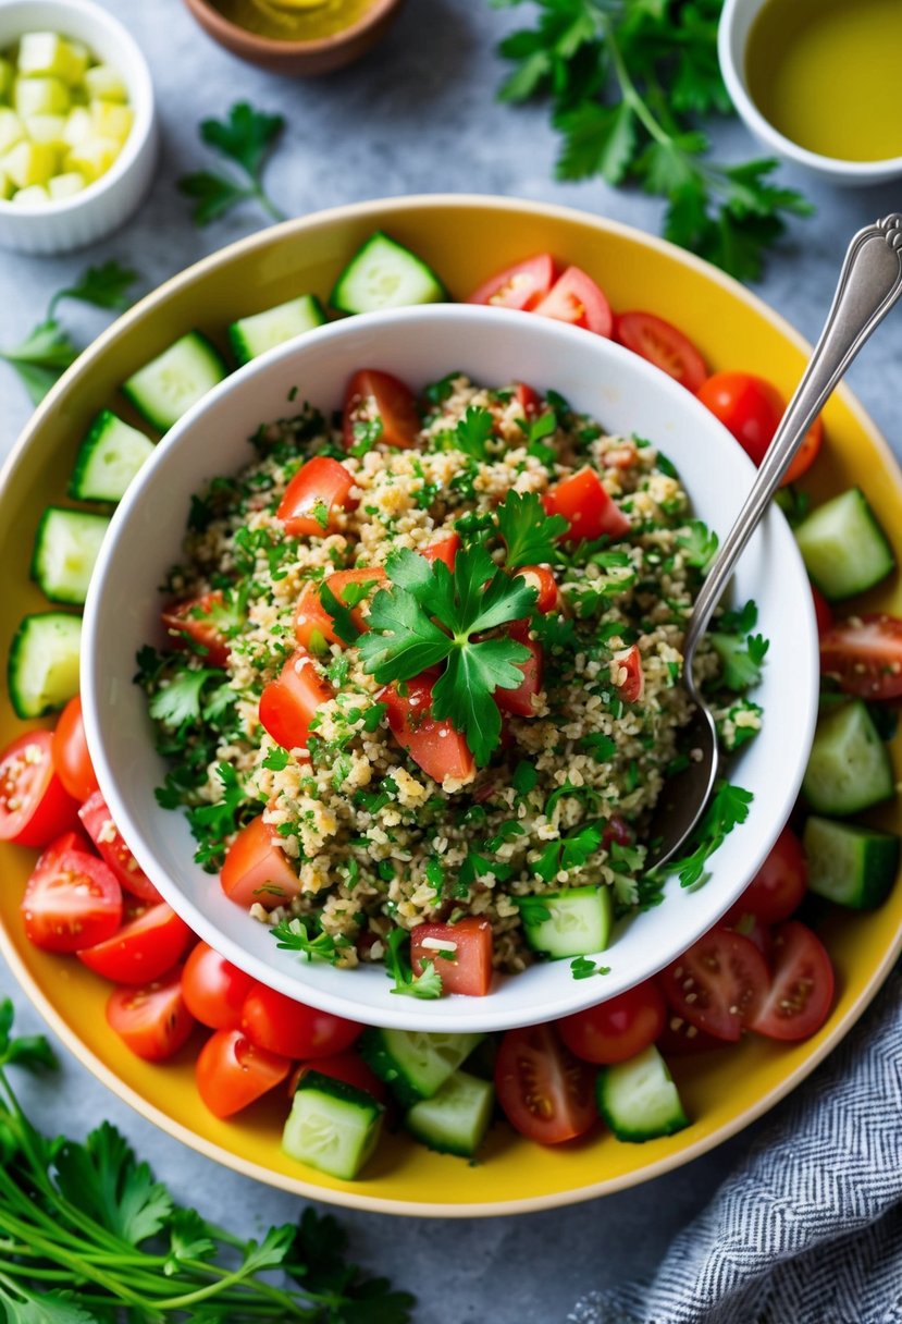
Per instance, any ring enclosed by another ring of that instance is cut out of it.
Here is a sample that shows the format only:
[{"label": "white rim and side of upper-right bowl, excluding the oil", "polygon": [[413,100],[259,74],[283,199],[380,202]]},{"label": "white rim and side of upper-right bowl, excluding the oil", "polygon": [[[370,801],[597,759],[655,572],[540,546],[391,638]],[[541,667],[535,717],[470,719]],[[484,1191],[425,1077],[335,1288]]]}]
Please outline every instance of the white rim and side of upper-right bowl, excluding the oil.
[{"label": "white rim and side of upper-right bowl, excluding the oil", "polygon": [[[758,110],[749,94],[746,81],[746,48],[755,19],[764,5],[771,3],[772,0],[726,0],[717,30],[717,57],[723,82],[746,127],[768,152],[783,156],[784,160],[794,162],[796,166],[803,166],[833,184],[848,187],[885,184],[890,179],[902,177],[902,156],[891,156],[878,162],[848,162],[835,156],[821,156],[819,152],[811,152],[808,148],[800,147],[799,143],[794,143],[791,138],[786,138]],[[795,0],[782,0],[782,3],[791,7]],[[849,0],[849,3],[854,4],[854,0]],[[827,89],[824,95],[841,95],[841,89]]]}]

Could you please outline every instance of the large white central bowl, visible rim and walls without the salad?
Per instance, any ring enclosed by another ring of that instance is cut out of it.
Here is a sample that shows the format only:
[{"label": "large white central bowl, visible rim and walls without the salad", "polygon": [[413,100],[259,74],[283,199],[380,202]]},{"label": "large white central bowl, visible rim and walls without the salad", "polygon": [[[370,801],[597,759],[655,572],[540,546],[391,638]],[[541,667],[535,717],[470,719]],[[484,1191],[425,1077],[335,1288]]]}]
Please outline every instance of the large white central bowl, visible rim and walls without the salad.
[{"label": "large white central bowl, visible rim and walls without the salad", "polygon": [[[156,804],[165,764],[153,751],[135,654],[163,643],[159,585],[179,559],[190,494],[249,463],[249,438],[283,416],[290,391],[324,410],[341,404],[360,367],[422,388],[451,369],[487,384],[554,388],[608,429],[652,438],[682,475],[698,518],[725,534],[753,466],[719,422],[671,377],[610,340],[546,318],[466,305],[403,308],[333,323],[242,368],[160,442],[115,514],[85,612],[82,703],[87,741],[115,822],[167,900],[218,952],[255,978],[369,1023],[403,1029],[496,1030],[548,1021],[620,993],[700,937],[762,863],[786,822],[815,724],[817,647],[808,580],[783,515],[774,508],[735,575],[735,598],[754,597],[771,639],[755,694],[764,730],[737,759],[734,780],[754,792],[747,824],[712,859],[710,880],[622,923],[604,953],[610,974],[575,981],[569,961],[537,964],[497,981],[487,997],[419,1002],[395,997],[381,967],[336,970],[279,952],[267,928],[227,900],[193,863],[188,824]],[[294,399],[294,397],[292,397]]]}]

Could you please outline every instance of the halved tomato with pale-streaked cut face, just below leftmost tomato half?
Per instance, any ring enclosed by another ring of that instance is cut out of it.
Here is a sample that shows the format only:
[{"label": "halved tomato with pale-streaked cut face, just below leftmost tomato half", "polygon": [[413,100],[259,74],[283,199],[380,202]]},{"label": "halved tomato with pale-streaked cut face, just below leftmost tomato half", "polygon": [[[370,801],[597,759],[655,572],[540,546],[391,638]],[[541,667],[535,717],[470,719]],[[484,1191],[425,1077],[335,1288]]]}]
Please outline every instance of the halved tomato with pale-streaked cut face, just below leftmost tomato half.
[{"label": "halved tomato with pale-streaked cut face, just below leftmost tomato half", "polygon": [[122,922],[122,890],[97,855],[52,842],[25,886],[20,911],[29,941],[46,952],[77,952],[111,937]]}]

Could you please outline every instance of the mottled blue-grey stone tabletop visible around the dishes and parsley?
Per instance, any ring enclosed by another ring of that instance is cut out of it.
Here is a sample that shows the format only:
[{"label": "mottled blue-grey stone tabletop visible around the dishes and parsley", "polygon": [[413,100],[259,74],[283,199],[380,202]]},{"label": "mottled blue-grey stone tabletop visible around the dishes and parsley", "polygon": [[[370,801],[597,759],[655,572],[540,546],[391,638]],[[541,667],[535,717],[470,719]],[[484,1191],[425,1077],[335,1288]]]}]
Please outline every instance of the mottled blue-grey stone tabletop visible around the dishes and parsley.
[{"label": "mottled blue-grey stone tabletop visible around the dishes and parsley", "polygon": [[[520,17],[484,0],[409,0],[381,49],[356,68],[319,82],[291,82],[242,65],[210,44],[177,0],[107,0],[132,29],[151,62],[163,122],[163,160],[142,213],[97,250],[58,258],[0,254],[0,344],[20,339],[40,319],[49,295],[89,261],[115,254],[134,263],[145,287],[230,240],[258,217],[237,212],[196,230],[175,180],[205,164],[196,124],[237,98],[278,109],[288,131],[268,183],[290,214],[358,199],[411,192],[476,191],[582,207],[655,230],[657,203],[615,193],[604,184],[555,184],[554,135],[545,111],[496,105],[501,64],[497,38]],[[750,151],[739,126],[719,131],[722,151]],[[784,171],[792,179],[790,169]],[[827,311],[845,240],[860,225],[899,205],[898,189],[833,192],[805,181],[816,220],[796,224],[775,253],[763,297],[807,335]],[[83,338],[102,315],[66,308]],[[902,430],[897,315],[852,373],[852,383],[890,441]],[[893,371],[895,369],[895,372]],[[0,451],[12,445],[29,406],[0,364]],[[902,438],[901,438],[902,440]],[[0,988],[19,1004],[22,1030],[38,1017],[0,965]],[[247,1234],[294,1218],[298,1202],[189,1152],[118,1103],[67,1054],[56,1083],[25,1090],[49,1129],[78,1133],[110,1117],[131,1137],[180,1198]],[[373,1214],[343,1215],[354,1250],[370,1266],[419,1290],[418,1313],[430,1324],[552,1324],[590,1287],[649,1272],[671,1237],[701,1209],[747,1145],[737,1137],[719,1151],[623,1194],[521,1218],[436,1223]]]}]

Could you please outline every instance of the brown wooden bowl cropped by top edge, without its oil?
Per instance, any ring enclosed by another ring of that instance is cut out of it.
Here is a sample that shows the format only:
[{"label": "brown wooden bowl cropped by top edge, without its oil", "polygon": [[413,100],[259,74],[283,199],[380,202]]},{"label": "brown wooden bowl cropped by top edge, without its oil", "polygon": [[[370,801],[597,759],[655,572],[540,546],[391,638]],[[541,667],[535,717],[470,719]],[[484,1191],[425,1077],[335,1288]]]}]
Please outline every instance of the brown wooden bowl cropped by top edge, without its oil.
[{"label": "brown wooden bowl cropped by top edge, without its oil", "polygon": [[331,37],[282,41],[262,37],[225,19],[210,0],[185,0],[201,28],[239,60],[276,74],[309,78],[341,69],[365,54],[388,32],[403,0],[373,0],[361,19]]}]

